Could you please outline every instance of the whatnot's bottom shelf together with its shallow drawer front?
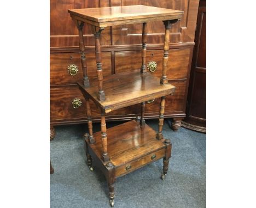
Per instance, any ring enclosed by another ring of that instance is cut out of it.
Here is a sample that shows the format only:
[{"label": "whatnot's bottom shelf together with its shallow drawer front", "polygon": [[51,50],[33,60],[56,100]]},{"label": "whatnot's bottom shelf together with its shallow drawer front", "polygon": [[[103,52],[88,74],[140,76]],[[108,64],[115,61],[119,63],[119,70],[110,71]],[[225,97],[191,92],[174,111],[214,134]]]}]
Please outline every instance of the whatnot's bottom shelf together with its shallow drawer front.
[{"label": "whatnot's bottom shelf together with its shallow drawer front", "polygon": [[[141,126],[136,120],[107,129],[107,137],[108,162],[114,165],[115,178],[166,156],[165,139],[156,139],[156,132],[151,127]],[[94,144],[88,139],[85,143],[92,156],[92,166],[96,162],[103,168],[108,162],[101,159],[101,132],[94,133],[94,138]]]}]

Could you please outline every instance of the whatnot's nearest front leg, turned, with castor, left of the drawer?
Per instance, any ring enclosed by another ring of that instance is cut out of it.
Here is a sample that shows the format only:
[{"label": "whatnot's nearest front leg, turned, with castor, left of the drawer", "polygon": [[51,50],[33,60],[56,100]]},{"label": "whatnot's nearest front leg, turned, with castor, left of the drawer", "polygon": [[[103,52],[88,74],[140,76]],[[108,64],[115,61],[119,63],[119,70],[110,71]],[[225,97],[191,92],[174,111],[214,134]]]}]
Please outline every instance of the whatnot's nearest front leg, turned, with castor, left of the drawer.
[{"label": "whatnot's nearest front leg, turned, with castor, left of the drawer", "polygon": [[108,169],[108,191],[109,191],[109,203],[110,206],[114,206],[114,198],[115,198],[115,191],[114,191],[114,182],[115,182],[115,169],[112,162],[108,162],[106,164],[106,168]]}]

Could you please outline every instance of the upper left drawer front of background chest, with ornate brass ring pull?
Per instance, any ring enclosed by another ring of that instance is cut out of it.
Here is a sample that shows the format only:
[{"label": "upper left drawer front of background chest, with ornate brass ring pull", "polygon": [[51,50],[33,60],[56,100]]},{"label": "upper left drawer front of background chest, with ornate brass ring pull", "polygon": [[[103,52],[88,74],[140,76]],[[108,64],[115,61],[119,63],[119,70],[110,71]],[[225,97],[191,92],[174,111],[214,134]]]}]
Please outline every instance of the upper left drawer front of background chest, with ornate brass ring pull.
[{"label": "upper left drawer front of background chest, with ornate brass ring pull", "polygon": [[[111,53],[102,52],[103,76],[111,75]],[[85,53],[88,76],[97,77],[95,53]],[[74,64],[74,65],[73,65]],[[73,65],[68,68],[69,65]],[[83,80],[80,53],[50,54],[50,85],[76,84]]]}]

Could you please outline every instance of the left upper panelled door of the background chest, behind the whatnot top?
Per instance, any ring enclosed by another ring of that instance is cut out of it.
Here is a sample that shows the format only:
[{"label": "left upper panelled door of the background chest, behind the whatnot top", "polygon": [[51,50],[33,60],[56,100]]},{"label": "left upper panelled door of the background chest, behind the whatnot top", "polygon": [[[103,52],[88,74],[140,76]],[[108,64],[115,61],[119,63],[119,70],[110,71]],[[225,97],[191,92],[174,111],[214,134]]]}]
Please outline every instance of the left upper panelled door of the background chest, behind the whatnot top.
[{"label": "left upper panelled door of the background chest, behind the whatnot top", "polygon": [[[109,7],[109,0],[55,0],[50,1],[50,47],[78,46],[78,29],[68,14],[68,9]],[[84,27],[85,46],[94,45],[91,27]],[[102,32],[102,45],[110,45],[110,28]]]}]

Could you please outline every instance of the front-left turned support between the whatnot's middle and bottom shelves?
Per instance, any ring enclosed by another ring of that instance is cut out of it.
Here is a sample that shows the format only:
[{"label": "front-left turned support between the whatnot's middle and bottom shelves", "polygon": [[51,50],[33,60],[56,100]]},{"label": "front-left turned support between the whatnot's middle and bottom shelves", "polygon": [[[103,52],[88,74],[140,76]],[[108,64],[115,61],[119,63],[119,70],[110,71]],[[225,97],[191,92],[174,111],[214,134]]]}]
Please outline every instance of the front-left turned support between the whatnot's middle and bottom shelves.
[{"label": "front-left turned support between the whatnot's middle and bottom shelves", "polygon": [[106,126],[106,119],[105,113],[101,111],[101,140],[102,140],[102,160],[104,162],[109,161],[109,156],[107,152],[107,126]]}]

